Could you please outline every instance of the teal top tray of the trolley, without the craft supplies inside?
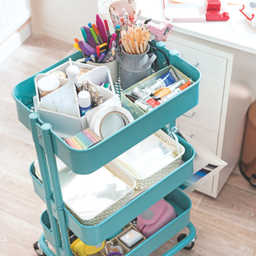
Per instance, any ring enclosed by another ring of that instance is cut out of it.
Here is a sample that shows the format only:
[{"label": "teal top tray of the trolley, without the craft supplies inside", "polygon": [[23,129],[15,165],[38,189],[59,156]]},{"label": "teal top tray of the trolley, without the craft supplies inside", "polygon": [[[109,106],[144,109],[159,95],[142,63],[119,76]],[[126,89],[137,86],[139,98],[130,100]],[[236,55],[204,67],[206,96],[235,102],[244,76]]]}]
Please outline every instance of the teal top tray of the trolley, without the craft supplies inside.
[{"label": "teal top tray of the trolley, without the craft supplies inside", "polygon": [[[56,154],[58,158],[70,168],[70,170],[73,170],[74,173],[90,174],[94,172],[94,170],[98,170],[101,166],[106,165],[106,163],[130,149],[130,147],[141,142],[144,138],[147,138],[150,134],[153,134],[168,123],[173,122],[174,119],[198,104],[199,81],[201,80],[200,72],[194,66],[191,66],[188,62],[180,58],[177,51],[170,51],[165,47],[162,48],[162,50],[164,50],[168,56],[170,65],[177,68],[188,78],[192,78],[194,84],[184,90],[182,94],[178,94],[170,101],[162,103],[161,106],[150,111],[150,113],[144,114],[128,126],[119,130],[116,134],[111,135],[109,138],[104,139],[102,142],[99,142],[97,145],[87,150],[75,150],[71,148],[62,141],[62,138],[54,133],[54,130],[51,130],[54,154]],[[82,58],[82,54],[81,52],[71,54],[69,57],[62,59],[62,61],[47,67],[39,73],[46,73],[49,70],[53,70],[54,67],[67,62],[68,58],[75,61],[78,58]],[[13,90],[13,97],[18,112],[18,120],[29,130],[29,115],[34,111],[34,76],[35,74],[19,83]],[[38,122],[43,124],[40,118],[38,118]],[[37,127],[37,130],[38,137],[34,138],[34,140],[42,145],[42,139],[40,139],[42,130],[39,127]],[[84,168],[85,162],[86,169]]]}]

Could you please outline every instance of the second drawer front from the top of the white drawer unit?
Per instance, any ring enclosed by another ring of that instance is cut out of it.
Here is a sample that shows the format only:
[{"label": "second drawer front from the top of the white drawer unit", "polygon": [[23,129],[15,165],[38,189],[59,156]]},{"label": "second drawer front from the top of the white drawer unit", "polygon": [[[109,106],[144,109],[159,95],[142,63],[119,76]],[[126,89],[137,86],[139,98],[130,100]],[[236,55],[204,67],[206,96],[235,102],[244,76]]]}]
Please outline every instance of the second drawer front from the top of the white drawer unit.
[{"label": "second drawer front from the top of the white drawer unit", "polygon": [[222,109],[224,86],[202,78],[199,86],[199,102]]}]

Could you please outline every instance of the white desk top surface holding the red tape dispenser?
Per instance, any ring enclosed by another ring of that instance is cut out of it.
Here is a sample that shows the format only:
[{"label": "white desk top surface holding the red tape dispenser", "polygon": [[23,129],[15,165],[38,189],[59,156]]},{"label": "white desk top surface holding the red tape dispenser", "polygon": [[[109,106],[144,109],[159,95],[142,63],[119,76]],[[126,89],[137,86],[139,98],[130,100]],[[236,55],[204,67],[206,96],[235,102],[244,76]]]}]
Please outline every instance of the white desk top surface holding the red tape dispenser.
[{"label": "white desk top surface holding the red tape dispenser", "polygon": [[[152,18],[153,22],[159,23],[165,18],[162,0],[147,0],[146,6],[140,8],[142,20]],[[173,22],[173,30],[256,54],[256,32],[246,24],[239,9],[241,6],[228,6],[230,20],[227,22]]]}]

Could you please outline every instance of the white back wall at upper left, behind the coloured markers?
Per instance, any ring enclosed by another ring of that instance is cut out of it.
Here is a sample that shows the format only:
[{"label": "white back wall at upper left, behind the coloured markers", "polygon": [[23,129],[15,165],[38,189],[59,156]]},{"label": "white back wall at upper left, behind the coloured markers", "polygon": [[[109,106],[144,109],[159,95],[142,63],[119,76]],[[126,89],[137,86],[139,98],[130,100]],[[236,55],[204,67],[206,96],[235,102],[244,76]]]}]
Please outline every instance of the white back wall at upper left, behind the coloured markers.
[{"label": "white back wall at upper left, behind the coloured markers", "polygon": [[81,26],[96,22],[97,0],[31,0],[32,30],[74,43],[82,39]]}]

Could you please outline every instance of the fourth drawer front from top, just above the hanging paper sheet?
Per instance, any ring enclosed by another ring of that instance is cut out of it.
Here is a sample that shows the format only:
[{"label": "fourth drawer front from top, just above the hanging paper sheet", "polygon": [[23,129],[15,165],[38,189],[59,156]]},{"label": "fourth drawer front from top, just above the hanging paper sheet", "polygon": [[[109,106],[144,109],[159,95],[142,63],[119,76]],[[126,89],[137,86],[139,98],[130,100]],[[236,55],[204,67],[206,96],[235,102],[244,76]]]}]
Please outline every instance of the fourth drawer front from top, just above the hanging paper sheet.
[{"label": "fourth drawer front from top, just above the hanging paper sheet", "polygon": [[206,147],[213,154],[217,154],[218,133],[203,127],[194,125],[190,122],[185,122],[180,118],[176,119],[176,126],[178,129],[193,138],[196,142]]}]

